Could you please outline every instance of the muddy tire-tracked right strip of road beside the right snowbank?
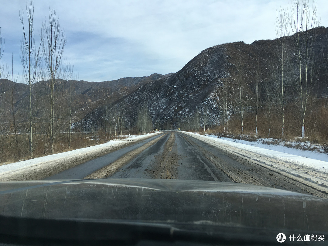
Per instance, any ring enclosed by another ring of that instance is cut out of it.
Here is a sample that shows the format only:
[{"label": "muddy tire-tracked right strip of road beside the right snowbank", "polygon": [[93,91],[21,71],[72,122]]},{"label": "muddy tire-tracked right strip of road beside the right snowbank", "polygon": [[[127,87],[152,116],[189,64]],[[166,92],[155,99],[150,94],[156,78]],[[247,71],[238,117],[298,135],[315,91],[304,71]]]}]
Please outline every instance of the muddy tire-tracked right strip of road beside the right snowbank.
[{"label": "muddy tire-tracked right strip of road beside the right snowbank", "polygon": [[[194,139],[195,141],[193,141]],[[193,142],[192,144],[200,148],[203,155],[211,160],[221,172],[227,174],[233,182],[273,187],[328,198],[327,189],[325,187],[319,187],[302,178],[289,175],[274,167],[267,166],[246,156],[244,153],[237,153],[225,147],[212,146],[195,137],[193,140],[190,140]],[[209,148],[205,149],[200,146],[201,144],[197,144],[197,141],[203,143],[202,145],[209,146],[211,149],[217,149],[217,151],[210,151]],[[222,154],[235,160],[235,163],[230,162],[229,165],[227,165],[224,160],[220,158]]]}]

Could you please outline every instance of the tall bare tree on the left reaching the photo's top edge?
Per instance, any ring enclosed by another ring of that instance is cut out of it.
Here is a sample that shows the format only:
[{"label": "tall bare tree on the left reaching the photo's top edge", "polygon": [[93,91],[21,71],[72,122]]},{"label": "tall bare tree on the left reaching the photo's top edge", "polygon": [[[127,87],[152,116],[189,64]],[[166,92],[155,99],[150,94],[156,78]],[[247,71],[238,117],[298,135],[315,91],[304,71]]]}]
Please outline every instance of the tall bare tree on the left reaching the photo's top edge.
[{"label": "tall bare tree on the left reaching the photo's top edge", "polygon": [[34,7],[32,5],[32,1],[26,4],[26,20],[27,24],[25,24],[24,11],[22,10],[19,14],[20,21],[23,26],[23,39],[21,41],[21,62],[24,68],[24,79],[29,85],[29,110],[28,110],[28,122],[29,122],[29,151],[30,156],[33,158],[33,151],[35,144],[33,142],[33,124],[34,124],[34,110],[32,107],[32,86],[35,81],[37,81],[39,76],[39,66],[41,62],[41,44],[42,44],[42,36],[41,42],[38,45],[35,45],[34,40],[34,26],[33,26],[33,17],[34,17]]}]

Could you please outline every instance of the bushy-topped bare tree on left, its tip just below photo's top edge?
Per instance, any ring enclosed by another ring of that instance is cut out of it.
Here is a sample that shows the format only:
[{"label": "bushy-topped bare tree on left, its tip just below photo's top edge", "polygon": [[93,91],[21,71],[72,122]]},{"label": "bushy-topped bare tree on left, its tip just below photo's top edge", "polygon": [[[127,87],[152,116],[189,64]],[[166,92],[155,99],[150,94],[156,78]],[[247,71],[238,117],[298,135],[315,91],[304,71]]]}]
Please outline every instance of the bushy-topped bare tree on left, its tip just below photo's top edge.
[{"label": "bushy-topped bare tree on left, its tip just below photo's top edge", "polygon": [[54,88],[56,85],[56,78],[61,72],[60,62],[64,53],[66,44],[65,32],[61,30],[58,18],[56,17],[55,10],[49,10],[48,21],[43,23],[43,32],[45,41],[43,42],[44,60],[47,67],[48,75],[50,77],[50,142],[51,153],[54,153],[54,102],[55,93]]}]

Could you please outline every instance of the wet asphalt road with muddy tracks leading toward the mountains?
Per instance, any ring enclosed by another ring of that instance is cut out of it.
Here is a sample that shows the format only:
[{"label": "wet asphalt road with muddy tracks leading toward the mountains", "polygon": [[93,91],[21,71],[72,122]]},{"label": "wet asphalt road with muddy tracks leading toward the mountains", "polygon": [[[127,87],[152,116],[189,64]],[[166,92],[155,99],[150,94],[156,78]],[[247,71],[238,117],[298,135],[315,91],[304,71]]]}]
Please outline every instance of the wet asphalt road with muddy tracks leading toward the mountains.
[{"label": "wet asphalt road with muddy tracks leading toward the mountains", "polygon": [[161,178],[247,183],[328,197],[327,193],[181,132],[164,132],[48,179]]}]

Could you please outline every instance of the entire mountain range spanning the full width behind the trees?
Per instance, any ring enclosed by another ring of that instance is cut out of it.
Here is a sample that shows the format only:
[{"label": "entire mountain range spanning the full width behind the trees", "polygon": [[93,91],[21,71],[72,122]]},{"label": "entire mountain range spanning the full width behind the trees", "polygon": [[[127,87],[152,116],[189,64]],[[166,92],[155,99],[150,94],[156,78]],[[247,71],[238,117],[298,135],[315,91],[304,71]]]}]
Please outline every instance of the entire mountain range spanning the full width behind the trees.
[{"label": "entire mountain range spanning the full width behind the trees", "polygon": [[[328,29],[318,27],[308,32],[311,37],[315,37],[311,44],[313,59],[309,63],[316,68],[317,74],[312,93],[324,98],[328,95]],[[295,103],[298,96],[293,86],[297,74],[296,35],[283,37],[286,60],[284,76],[288,78],[285,85],[286,105]],[[304,35],[305,33],[300,33],[301,37]],[[120,125],[121,128],[123,126],[135,130],[140,125],[139,116],[142,111],[149,115],[149,128],[172,129],[184,126],[184,129],[197,130],[197,127],[199,129],[204,125],[221,125],[224,112],[229,119],[233,119],[240,111],[238,77],[241,76],[244,81],[242,93],[245,112],[255,112],[257,78],[260,80],[260,109],[266,112],[266,100],[268,95],[275,94],[277,86],[274,81],[280,76],[279,42],[279,39],[275,39],[257,40],[252,44],[235,42],[217,45],[200,52],[180,71],[166,75],[154,73],[150,76],[104,82],[59,79],[56,86],[57,93],[60,93],[56,102],[58,122],[62,121],[62,128],[67,129],[71,88],[73,128],[79,130],[104,128],[107,121],[112,122],[115,128]],[[301,43],[301,49],[304,47],[304,43]],[[304,78],[305,74],[301,76]],[[28,86],[18,83],[13,85],[14,112],[23,118],[28,103]],[[12,111],[10,92],[11,81],[0,79],[0,100],[7,100],[7,106],[3,106],[7,117]],[[49,81],[35,83],[33,92],[38,92],[38,101],[43,102],[36,117],[39,122],[47,122]],[[227,104],[225,108],[223,98]],[[36,100],[35,97],[34,99]],[[145,116],[143,118],[146,119]],[[20,123],[23,125],[24,121],[21,120]],[[192,124],[196,127],[191,127]]]}]

